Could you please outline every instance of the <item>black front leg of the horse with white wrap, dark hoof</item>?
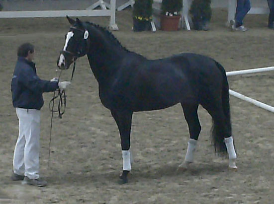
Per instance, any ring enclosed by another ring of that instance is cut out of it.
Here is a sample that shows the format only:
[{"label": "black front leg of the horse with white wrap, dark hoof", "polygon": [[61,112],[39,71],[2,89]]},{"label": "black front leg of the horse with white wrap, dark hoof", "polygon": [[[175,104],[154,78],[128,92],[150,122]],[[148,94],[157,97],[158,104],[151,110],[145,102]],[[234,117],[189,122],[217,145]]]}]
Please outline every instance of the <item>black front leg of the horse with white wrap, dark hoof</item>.
[{"label": "black front leg of the horse with white wrap, dark hoof", "polygon": [[111,114],[118,126],[120,137],[121,137],[121,146],[122,146],[122,156],[123,156],[123,173],[120,176],[120,184],[125,184],[128,182],[127,176],[131,170],[130,164],[130,130],[131,130],[131,121],[132,121],[132,111],[120,111],[120,110],[111,110]]}]

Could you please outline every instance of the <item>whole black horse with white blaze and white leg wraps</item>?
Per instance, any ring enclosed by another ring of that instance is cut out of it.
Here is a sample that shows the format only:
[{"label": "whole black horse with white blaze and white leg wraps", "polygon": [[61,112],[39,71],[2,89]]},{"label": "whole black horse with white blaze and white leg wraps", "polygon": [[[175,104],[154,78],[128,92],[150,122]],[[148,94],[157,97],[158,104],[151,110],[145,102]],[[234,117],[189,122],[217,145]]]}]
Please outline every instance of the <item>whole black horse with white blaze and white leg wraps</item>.
[{"label": "whole black horse with white blaze and white leg wraps", "polygon": [[58,58],[60,69],[68,69],[79,57],[88,55],[91,70],[99,84],[99,97],[108,108],[121,136],[123,173],[127,182],[130,164],[130,130],[133,112],[164,109],[181,103],[190,139],[183,163],[193,162],[201,131],[197,109],[202,105],[212,117],[215,152],[228,152],[229,167],[237,169],[231,136],[229,88],[224,68],[215,60],[183,53],[148,60],[128,51],[106,29],[90,22],[73,20],[65,46]]}]

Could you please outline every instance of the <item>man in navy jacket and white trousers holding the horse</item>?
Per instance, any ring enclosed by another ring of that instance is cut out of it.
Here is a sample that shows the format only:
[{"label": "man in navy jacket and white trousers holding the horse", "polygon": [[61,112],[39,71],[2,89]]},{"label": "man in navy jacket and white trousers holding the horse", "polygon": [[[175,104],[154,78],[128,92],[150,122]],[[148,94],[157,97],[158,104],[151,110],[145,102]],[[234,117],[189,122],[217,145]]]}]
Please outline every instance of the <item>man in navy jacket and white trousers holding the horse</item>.
[{"label": "man in navy jacket and white trousers holding the horse", "polygon": [[19,134],[13,155],[13,181],[43,187],[46,181],[39,178],[40,109],[44,105],[43,92],[66,89],[69,81],[42,80],[36,74],[34,46],[24,43],[17,50],[11,92],[12,103],[19,120]]}]

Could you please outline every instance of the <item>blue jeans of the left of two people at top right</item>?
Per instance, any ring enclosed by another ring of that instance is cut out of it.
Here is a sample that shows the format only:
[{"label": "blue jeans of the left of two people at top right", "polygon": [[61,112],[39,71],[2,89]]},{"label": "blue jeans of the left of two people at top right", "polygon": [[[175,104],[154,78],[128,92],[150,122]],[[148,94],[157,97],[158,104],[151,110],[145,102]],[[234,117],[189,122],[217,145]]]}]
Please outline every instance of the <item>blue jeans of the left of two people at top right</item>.
[{"label": "blue jeans of the left of two people at top right", "polygon": [[250,10],[250,0],[237,0],[237,7],[235,13],[236,27],[243,25],[243,19]]}]

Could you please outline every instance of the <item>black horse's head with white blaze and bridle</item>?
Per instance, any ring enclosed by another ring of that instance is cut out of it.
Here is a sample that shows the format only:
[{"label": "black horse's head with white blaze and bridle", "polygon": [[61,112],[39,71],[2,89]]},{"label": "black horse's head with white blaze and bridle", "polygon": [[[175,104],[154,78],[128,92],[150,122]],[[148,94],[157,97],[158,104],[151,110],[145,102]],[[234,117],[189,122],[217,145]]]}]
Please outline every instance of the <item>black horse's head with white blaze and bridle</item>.
[{"label": "black horse's head with white blaze and bridle", "polygon": [[77,58],[86,55],[89,51],[89,31],[78,18],[73,20],[67,16],[67,19],[71,27],[65,35],[65,45],[57,60],[57,66],[60,69],[70,68]]}]

